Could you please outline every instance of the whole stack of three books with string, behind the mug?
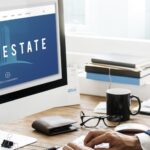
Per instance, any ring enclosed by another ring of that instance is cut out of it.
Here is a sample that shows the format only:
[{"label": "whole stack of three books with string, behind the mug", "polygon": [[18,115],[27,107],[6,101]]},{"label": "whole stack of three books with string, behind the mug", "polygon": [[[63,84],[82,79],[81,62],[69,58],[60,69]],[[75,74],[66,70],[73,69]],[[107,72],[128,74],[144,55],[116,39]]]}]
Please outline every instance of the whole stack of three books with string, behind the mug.
[{"label": "whole stack of three books with string, behind the mug", "polygon": [[105,54],[85,65],[86,78],[100,81],[143,85],[150,83],[150,58]]}]

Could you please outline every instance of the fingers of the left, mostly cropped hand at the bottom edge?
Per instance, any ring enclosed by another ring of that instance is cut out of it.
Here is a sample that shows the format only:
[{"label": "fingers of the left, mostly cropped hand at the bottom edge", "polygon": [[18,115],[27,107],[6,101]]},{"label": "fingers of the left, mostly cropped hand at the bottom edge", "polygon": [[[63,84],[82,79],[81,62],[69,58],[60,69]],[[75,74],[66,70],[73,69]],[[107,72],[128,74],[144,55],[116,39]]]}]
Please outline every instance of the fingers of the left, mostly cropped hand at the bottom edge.
[{"label": "fingers of the left, mostly cropped hand at the bottom edge", "polygon": [[69,143],[66,146],[63,147],[63,150],[93,150],[90,147],[86,147],[86,146],[78,146],[76,144],[73,143]]}]

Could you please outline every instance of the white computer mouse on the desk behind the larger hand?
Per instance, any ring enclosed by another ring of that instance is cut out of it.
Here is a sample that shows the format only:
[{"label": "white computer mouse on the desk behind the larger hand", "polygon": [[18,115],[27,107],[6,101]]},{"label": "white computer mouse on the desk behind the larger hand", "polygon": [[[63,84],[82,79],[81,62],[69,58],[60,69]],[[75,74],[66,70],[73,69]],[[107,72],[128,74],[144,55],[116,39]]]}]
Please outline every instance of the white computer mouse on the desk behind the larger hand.
[{"label": "white computer mouse on the desk behind the larger hand", "polygon": [[149,129],[150,128],[148,126],[139,123],[124,123],[115,127],[114,130],[120,133],[136,134],[136,133],[142,133]]}]

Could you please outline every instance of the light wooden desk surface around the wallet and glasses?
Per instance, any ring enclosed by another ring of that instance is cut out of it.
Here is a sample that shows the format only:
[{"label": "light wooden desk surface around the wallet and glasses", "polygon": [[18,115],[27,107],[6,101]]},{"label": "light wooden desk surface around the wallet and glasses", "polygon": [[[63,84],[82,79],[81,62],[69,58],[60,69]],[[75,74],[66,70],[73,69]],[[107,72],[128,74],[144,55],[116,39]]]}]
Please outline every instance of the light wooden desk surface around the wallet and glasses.
[{"label": "light wooden desk surface around the wallet and glasses", "polygon": [[[1,124],[0,129],[37,138],[38,141],[36,143],[30,146],[26,146],[25,148],[22,149],[36,149],[36,150],[43,149],[44,150],[49,146],[55,146],[55,145],[63,146],[64,144],[74,140],[78,136],[87,134],[88,129],[79,129],[78,131],[75,132],[70,132],[70,133],[65,133],[65,134],[60,134],[55,136],[47,136],[36,132],[31,127],[32,122],[43,116],[61,115],[64,117],[73,118],[77,120],[78,123],[80,123],[80,111],[83,110],[84,112],[87,113],[92,112],[93,108],[100,101],[103,100],[104,98],[102,97],[81,95],[81,105],[52,108],[47,111],[20,119],[16,122],[12,122],[9,124]],[[143,123],[145,125],[150,126],[149,120],[150,120],[150,116],[136,115],[136,116],[131,116],[131,119],[128,122]]]}]

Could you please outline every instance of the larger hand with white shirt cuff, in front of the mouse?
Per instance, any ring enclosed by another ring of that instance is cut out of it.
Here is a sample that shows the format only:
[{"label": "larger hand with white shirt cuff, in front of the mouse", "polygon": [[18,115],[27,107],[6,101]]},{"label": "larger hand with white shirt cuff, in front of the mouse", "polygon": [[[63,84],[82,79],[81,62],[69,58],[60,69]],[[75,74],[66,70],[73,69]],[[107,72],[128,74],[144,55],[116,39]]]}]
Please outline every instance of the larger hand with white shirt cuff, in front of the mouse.
[{"label": "larger hand with white shirt cuff, in front of the mouse", "polygon": [[112,130],[91,131],[84,140],[84,144],[91,148],[102,143],[109,143],[109,148],[98,150],[142,150],[136,136],[128,136]]}]

